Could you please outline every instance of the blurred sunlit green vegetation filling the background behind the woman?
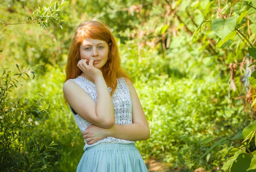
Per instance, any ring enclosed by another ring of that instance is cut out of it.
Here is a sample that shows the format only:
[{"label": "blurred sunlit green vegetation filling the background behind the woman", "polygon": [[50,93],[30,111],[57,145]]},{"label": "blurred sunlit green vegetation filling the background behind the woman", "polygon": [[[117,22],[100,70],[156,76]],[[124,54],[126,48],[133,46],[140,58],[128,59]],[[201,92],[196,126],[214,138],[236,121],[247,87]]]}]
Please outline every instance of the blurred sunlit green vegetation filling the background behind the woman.
[{"label": "blurred sunlit green vegetation filling the background behind the woman", "polygon": [[116,38],[150,126],[150,138],[136,143],[149,172],[223,171],[234,155],[218,151],[240,145],[226,142],[204,155],[214,142],[200,141],[232,138],[255,120],[250,45],[238,31],[222,39],[211,27],[234,16],[255,44],[256,8],[242,1],[0,1],[1,171],[76,171],[84,140],[62,86],[82,21],[102,20]]}]

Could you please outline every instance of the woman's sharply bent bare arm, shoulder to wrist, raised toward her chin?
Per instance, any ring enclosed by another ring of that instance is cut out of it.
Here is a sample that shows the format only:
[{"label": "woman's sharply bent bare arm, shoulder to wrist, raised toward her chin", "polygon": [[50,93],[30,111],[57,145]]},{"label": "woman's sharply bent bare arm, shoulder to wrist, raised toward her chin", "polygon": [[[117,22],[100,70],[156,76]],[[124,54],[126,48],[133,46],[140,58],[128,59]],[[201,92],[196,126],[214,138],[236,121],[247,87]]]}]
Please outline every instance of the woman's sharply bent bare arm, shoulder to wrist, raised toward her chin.
[{"label": "woman's sharply bent bare arm, shoulder to wrist, raised toward her chin", "polygon": [[103,76],[94,79],[97,103],[76,82],[68,80],[63,85],[63,93],[68,104],[86,121],[102,128],[115,124],[113,102]]}]

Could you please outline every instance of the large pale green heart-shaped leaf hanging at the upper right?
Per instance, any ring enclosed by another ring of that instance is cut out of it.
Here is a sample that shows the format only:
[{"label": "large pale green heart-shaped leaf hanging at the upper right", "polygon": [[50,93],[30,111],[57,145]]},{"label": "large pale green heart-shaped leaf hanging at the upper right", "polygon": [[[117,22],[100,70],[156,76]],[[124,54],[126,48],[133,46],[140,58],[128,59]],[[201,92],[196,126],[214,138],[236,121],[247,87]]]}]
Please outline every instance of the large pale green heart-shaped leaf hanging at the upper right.
[{"label": "large pale green heart-shaped leaf hanging at the upper right", "polygon": [[227,35],[235,30],[236,16],[230,17],[227,20],[215,18],[212,20],[211,27],[215,34],[224,40]]}]

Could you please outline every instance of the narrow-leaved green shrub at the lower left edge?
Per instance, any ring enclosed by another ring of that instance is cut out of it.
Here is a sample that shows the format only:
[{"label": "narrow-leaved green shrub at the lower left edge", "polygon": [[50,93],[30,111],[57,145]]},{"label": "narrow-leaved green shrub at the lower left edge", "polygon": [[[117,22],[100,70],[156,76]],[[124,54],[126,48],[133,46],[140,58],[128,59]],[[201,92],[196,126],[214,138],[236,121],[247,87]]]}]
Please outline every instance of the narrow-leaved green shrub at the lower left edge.
[{"label": "narrow-leaved green shrub at the lower left edge", "polygon": [[10,99],[8,92],[19,82],[10,72],[3,70],[0,77],[0,171],[48,171],[52,167],[49,151],[55,150],[57,144],[52,141],[48,147],[36,137],[40,135],[37,127],[47,119],[50,106],[42,106],[44,97],[40,93],[16,101]]}]

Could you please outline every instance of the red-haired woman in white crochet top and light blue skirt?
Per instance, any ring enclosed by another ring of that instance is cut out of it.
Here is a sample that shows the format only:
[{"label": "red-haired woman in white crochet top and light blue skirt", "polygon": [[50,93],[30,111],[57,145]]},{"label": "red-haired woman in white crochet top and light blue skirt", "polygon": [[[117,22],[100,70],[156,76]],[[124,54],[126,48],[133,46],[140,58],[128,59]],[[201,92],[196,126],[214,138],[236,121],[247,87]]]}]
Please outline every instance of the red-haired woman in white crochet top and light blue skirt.
[{"label": "red-haired woman in white crochet top and light blue skirt", "polygon": [[148,139],[148,122],[120,61],[107,25],[88,21],[76,28],[63,93],[84,135],[77,172],[148,172],[134,144]]}]

